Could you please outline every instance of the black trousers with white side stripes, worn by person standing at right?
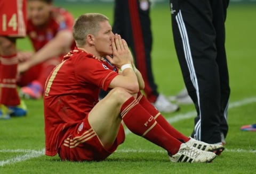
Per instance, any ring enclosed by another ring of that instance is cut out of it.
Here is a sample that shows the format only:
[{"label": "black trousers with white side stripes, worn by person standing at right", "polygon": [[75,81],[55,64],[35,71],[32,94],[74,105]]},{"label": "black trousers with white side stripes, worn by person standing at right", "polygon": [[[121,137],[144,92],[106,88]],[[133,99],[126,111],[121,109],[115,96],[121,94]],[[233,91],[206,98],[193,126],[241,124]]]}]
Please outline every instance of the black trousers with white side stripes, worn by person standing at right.
[{"label": "black trousers with white side stripes, worn by person standing at right", "polygon": [[192,137],[206,143],[227,136],[230,95],[225,50],[228,0],[170,0],[172,31],[183,80],[195,103]]}]

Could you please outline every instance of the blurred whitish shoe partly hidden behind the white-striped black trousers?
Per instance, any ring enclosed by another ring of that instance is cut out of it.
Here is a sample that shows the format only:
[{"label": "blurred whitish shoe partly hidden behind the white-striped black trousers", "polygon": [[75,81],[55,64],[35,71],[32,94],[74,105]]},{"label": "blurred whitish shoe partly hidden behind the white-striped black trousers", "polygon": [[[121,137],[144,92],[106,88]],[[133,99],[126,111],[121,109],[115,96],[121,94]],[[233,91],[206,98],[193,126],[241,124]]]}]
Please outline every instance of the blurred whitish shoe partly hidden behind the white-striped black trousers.
[{"label": "blurred whitish shoe partly hidden behind the white-striped black trousers", "polygon": [[186,88],[181,90],[177,95],[170,96],[168,99],[170,101],[176,101],[176,102],[178,102],[180,104],[184,104],[184,105],[189,105],[189,104],[193,103],[193,100],[188,95],[188,91]]}]

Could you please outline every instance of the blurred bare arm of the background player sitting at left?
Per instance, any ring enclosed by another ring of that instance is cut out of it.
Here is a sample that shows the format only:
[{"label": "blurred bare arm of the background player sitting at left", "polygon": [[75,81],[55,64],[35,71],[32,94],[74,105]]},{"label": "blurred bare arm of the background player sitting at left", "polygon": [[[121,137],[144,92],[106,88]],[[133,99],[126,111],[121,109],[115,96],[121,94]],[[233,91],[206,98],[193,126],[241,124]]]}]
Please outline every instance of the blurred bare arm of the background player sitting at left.
[{"label": "blurred bare arm of the background player sitting at left", "polygon": [[57,57],[62,53],[66,53],[67,50],[69,50],[72,42],[73,36],[71,31],[59,31],[52,40],[50,40],[43,48],[41,48],[34,54],[33,58],[31,58],[26,63],[19,64],[18,71],[20,73],[25,72],[30,67],[42,63],[47,59]]}]

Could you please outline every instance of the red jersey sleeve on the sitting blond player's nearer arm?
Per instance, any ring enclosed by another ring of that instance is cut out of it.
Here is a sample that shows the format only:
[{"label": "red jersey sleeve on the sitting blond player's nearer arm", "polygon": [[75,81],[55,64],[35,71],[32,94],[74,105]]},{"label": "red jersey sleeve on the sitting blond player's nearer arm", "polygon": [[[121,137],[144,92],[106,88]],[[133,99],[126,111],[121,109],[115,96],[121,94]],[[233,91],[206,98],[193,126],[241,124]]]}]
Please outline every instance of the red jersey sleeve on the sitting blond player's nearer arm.
[{"label": "red jersey sleeve on the sitting blond player's nearer arm", "polygon": [[110,82],[118,75],[113,69],[93,58],[81,59],[77,63],[75,75],[79,83],[91,83],[108,90]]}]

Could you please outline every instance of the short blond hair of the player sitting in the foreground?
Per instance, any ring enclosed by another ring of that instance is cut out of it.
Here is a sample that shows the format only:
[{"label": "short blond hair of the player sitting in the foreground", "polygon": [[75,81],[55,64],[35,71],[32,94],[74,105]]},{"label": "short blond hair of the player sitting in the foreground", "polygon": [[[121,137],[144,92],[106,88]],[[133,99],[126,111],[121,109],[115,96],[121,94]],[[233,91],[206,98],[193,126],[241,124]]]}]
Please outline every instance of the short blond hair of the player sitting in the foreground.
[{"label": "short blond hair of the player sitting in the foreground", "polygon": [[86,13],[79,16],[73,25],[73,37],[78,47],[85,45],[85,39],[88,34],[97,36],[100,28],[100,22],[109,21],[107,16],[100,13]]}]

